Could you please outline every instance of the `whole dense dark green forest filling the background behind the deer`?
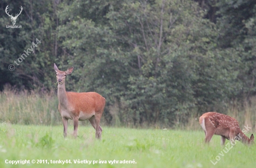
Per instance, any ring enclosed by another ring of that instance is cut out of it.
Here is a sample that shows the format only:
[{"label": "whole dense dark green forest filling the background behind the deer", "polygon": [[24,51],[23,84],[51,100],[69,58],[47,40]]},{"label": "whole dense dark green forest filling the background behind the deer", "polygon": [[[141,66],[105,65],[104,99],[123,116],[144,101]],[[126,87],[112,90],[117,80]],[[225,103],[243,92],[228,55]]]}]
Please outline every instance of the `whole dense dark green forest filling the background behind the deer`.
[{"label": "whole dense dark green forest filling the background behind the deer", "polygon": [[256,95],[256,0],[1,0],[0,26],[1,91],[56,92],[54,63],[74,67],[66,89],[105,97],[109,123],[171,124]]}]

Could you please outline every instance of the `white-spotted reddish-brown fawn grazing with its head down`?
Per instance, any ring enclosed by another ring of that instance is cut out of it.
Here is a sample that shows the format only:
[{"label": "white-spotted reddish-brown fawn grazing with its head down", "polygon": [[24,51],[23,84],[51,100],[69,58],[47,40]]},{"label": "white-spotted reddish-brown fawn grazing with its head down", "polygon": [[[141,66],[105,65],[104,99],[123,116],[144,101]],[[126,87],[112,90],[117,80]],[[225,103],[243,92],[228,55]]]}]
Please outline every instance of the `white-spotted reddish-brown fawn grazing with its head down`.
[{"label": "white-spotted reddish-brown fawn grazing with its head down", "polygon": [[221,144],[225,145],[226,139],[230,141],[242,141],[244,144],[252,144],[254,140],[253,134],[250,139],[244,134],[247,132],[239,128],[239,124],[236,119],[229,117],[228,115],[208,112],[202,114],[199,118],[199,123],[205,133],[205,142],[208,143],[213,134],[221,135]]}]

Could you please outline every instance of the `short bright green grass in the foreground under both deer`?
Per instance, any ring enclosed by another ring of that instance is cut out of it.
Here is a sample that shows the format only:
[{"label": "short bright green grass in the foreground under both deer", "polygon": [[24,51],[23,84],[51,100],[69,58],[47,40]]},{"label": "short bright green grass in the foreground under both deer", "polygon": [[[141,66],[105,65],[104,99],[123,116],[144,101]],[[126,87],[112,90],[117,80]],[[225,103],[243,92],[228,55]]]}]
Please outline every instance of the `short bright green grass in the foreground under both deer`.
[{"label": "short bright green grass in the foreground under both deer", "polygon": [[[62,126],[0,123],[0,168],[255,167],[255,145],[247,147],[237,142],[235,147],[225,153],[220,145],[220,136],[214,135],[209,145],[203,144],[203,131],[102,128],[102,141],[97,141],[94,139],[94,129],[91,126],[80,125],[78,138],[74,139],[73,127],[69,125],[67,138],[64,139]],[[223,153],[224,156],[219,153]],[[219,156],[220,160],[213,165],[210,160],[216,162],[216,156]],[[72,164],[32,164],[33,159],[47,160],[47,162],[70,160]],[[12,165],[5,163],[6,160],[30,160],[30,164]],[[107,163],[75,164],[74,160],[107,161]],[[108,163],[113,160],[134,160],[136,163],[112,165]]]}]

